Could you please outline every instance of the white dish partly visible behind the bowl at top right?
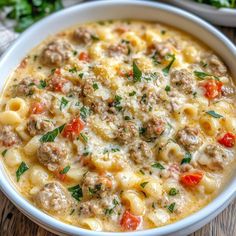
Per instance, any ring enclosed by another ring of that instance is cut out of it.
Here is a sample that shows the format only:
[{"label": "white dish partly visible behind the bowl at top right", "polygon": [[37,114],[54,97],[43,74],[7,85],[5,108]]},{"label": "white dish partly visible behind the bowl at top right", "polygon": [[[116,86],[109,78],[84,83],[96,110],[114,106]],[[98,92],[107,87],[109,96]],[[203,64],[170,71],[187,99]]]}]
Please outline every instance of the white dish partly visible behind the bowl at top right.
[{"label": "white dish partly visible behind the bowl at top right", "polygon": [[236,27],[235,8],[218,9],[216,7],[207,4],[195,2],[194,0],[162,0],[162,1],[174,4],[188,11],[191,11],[215,25]]}]

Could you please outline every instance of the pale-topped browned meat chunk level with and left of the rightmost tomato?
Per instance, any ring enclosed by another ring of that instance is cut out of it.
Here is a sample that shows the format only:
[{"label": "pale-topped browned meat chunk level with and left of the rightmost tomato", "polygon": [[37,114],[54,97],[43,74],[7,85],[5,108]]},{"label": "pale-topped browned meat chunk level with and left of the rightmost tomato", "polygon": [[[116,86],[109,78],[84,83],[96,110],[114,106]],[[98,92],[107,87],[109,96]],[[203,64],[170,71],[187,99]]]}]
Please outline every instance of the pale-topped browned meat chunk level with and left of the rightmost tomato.
[{"label": "pale-topped browned meat chunk level with and left of the rightmost tomato", "polygon": [[176,135],[176,140],[187,151],[195,151],[202,144],[198,129],[190,127],[179,130]]}]

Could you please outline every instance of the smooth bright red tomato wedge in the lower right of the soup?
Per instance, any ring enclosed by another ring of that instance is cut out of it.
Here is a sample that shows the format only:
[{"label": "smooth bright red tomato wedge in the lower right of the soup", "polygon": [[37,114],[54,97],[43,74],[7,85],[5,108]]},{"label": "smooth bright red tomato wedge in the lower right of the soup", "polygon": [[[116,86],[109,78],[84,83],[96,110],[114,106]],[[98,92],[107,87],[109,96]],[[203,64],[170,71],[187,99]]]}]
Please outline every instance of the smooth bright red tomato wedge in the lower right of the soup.
[{"label": "smooth bright red tomato wedge in the lower right of the soup", "polygon": [[180,182],[188,187],[196,186],[203,178],[203,172],[185,172],[180,176]]}]

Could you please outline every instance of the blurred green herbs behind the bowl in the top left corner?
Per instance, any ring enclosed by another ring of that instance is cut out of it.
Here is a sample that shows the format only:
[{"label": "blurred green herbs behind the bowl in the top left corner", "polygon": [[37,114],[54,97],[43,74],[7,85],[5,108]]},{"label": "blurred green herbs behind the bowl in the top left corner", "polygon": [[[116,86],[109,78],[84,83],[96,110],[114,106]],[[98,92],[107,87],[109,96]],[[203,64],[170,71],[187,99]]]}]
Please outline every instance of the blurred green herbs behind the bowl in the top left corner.
[{"label": "blurred green herbs behind the bowl in the top left corner", "polygon": [[0,10],[6,7],[10,8],[7,18],[16,21],[15,31],[22,32],[63,5],[61,0],[0,0]]}]

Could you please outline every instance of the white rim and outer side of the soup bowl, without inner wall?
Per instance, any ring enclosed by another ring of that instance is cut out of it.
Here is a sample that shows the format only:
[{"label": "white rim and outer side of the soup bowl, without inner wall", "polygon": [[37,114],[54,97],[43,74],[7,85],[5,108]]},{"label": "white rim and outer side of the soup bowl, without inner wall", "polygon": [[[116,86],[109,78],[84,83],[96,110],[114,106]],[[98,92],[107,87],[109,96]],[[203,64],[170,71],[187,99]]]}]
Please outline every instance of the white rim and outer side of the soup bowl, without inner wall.
[{"label": "white rim and outer side of the soup bowl, without inner wall", "polygon": [[[7,63],[8,56],[14,52],[18,48],[18,44],[24,41],[28,35],[31,35],[31,31],[37,30],[41,25],[46,25],[47,22],[58,19],[63,15],[68,14],[71,11],[77,11],[78,9],[86,9],[86,8],[96,8],[103,7],[105,5],[109,5],[111,7],[115,7],[117,5],[131,5],[131,6],[148,6],[151,8],[159,9],[162,11],[167,11],[172,14],[179,15],[180,17],[185,18],[188,21],[193,22],[194,24],[204,28],[209,31],[215,38],[221,40],[223,44],[232,52],[232,55],[236,58],[236,47],[233,45],[230,40],[224,36],[221,32],[219,32],[215,27],[207,23],[206,21],[200,19],[199,17],[188,13],[184,10],[178,9],[173,6],[169,6],[163,3],[157,2],[144,2],[144,1],[133,1],[133,0],[113,0],[113,1],[95,1],[95,2],[87,2],[82,3],[73,7],[69,7],[60,12],[54,13],[43,20],[37,22],[29,29],[27,29],[15,42],[14,44],[2,55],[0,58],[0,69]],[[137,17],[138,18],[138,17]],[[1,163],[2,164],[2,163]],[[8,180],[7,180],[8,179]],[[8,199],[19,208],[26,216],[32,219],[34,222],[39,225],[49,228],[54,231],[59,231],[61,233],[73,234],[73,235],[166,235],[170,233],[174,233],[176,231],[180,231],[186,227],[193,226],[199,221],[202,221],[212,215],[214,212],[219,211],[226,202],[229,202],[231,199],[236,197],[236,178],[233,177],[231,182],[227,185],[227,187],[216,197],[214,198],[208,205],[199,211],[166,226],[162,226],[159,228],[147,229],[142,231],[135,232],[96,232],[91,230],[86,230],[77,226],[69,225],[62,221],[53,218],[52,216],[44,213],[35,207],[32,203],[30,203],[27,199],[25,199],[15,188],[13,184],[9,184],[10,178],[4,178],[3,171],[0,170],[0,189],[3,193],[8,197]],[[207,213],[206,213],[207,212]]]}]

